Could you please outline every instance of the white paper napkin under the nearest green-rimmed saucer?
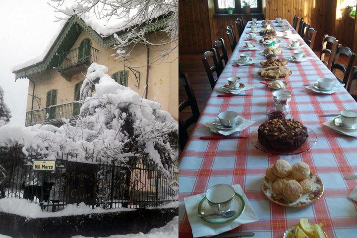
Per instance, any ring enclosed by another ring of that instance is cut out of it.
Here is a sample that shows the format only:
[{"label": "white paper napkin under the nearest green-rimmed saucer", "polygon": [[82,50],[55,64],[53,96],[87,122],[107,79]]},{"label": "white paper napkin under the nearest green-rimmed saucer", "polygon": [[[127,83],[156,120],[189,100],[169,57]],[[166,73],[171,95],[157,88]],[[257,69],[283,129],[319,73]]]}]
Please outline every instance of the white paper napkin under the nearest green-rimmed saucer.
[{"label": "white paper napkin under the nearest green-rimmed saucer", "polygon": [[233,187],[235,191],[243,197],[245,201],[245,209],[236,220],[225,224],[211,224],[197,217],[198,204],[202,200],[202,198],[205,197],[205,193],[184,198],[184,204],[186,207],[188,221],[191,225],[193,237],[218,235],[235,229],[241,224],[256,222],[259,220],[240,185],[236,184],[233,185]]}]

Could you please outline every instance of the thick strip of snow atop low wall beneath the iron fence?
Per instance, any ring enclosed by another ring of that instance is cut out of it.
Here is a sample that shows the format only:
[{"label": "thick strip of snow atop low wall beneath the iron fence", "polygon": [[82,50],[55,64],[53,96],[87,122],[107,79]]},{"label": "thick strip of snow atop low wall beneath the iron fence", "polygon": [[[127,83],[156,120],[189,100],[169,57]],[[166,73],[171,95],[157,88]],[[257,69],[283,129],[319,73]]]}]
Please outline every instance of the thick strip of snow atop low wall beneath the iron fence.
[{"label": "thick strip of snow atop low wall beneath the iron fence", "polygon": [[28,218],[40,218],[40,217],[62,217],[71,215],[83,215],[91,213],[106,213],[106,212],[124,212],[133,211],[131,208],[114,208],[103,209],[97,207],[95,209],[90,208],[83,202],[78,204],[67,204],[66,207],[58,212],[46,212],[41,211],[39,204],[30,202],[26,199],[18,198],[2,198],[0,199],[0,212],[16,214]]}]

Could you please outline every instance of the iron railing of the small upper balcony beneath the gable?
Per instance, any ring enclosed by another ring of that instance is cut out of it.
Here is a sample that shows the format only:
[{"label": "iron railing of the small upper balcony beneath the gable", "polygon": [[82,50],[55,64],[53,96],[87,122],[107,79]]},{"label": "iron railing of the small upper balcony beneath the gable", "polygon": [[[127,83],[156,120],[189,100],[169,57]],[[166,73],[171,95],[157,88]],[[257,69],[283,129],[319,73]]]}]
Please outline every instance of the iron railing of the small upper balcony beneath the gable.
[{"label": "iron railing of the small upper balcony beneath the gable", "polygon": [[73,50],[64,52],[59,55],[58,70],[76,66],[83,63],[93,63],[97,61],[98,50],[89,46],[83,45]]}]

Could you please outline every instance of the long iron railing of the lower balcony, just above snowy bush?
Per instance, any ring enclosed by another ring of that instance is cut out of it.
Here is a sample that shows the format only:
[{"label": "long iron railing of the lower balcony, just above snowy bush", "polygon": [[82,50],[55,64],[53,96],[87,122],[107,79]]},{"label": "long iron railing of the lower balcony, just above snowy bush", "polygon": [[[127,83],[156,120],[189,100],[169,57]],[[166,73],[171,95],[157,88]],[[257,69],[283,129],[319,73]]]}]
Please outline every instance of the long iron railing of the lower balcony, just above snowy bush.
[{"label": "long iron railing of the lower balcony, just above snowy bush", "polygon": [[59,122],[60,119],[71,119],[78,117],[82,103],[64,103],[53,105],[48,108],[36,109],[26,112],[25,125],[34,125],[37,123],[51,124]]}]

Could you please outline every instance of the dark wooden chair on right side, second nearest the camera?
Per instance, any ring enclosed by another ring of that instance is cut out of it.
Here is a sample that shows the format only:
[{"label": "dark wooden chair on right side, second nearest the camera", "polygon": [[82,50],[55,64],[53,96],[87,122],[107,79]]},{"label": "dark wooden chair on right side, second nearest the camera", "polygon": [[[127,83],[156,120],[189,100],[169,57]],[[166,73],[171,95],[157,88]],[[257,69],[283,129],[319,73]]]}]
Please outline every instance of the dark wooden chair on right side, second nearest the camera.
[{"label": "dark wooden chair on right side, second nearest the camera", "polygon": [[[349,58],[347,67],[341,63],[338,63],[338,58],[340,55],[345,55]],[[338,77],[337,77],[337,79],[341,83],[346,84],[345,87],[347,87],[347,81],[351,74],[351,70],[352,70],[352,66],[354,64],[355,58],[356,58],[356,54],[354,54],[350,48],[348,48],[346,46],[341,46],[340,44],[338,45],[337,50],[334,55],[334,59],[332,61],[331,72],[333,72],[335,74],[336,69],[339,69],[344,73],[344,77],[342,80]]]}]

